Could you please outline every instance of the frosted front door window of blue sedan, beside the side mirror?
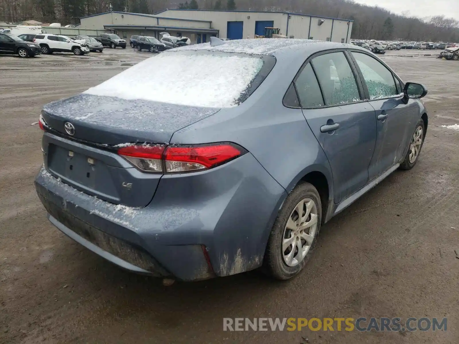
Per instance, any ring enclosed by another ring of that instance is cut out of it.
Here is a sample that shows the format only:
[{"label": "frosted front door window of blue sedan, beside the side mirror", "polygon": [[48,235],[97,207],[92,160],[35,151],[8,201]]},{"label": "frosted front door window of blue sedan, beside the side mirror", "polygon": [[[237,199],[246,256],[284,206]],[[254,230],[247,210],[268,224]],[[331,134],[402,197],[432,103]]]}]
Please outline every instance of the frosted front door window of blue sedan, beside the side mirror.
[{"label": "frosted front door window of blue sedan, beside the side mirror", "polygon": [[353,52],[352,55],[364,76],[370,99],[392,97],[399,93],[392,72],[386,66],[366,54]]}]

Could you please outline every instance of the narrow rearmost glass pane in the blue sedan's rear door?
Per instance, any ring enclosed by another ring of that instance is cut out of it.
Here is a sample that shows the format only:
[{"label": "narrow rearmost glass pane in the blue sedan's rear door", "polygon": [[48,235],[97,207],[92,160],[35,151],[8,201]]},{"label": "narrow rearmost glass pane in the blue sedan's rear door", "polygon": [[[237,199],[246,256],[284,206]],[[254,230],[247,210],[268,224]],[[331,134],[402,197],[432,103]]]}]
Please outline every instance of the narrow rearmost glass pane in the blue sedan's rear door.
[{"label": "narrow rearmost glass pane in the blue sedan's rear door", "polygon": [[306,67],[303,68],[300,75],[298,75],[295,86],[297,87],[298,97],[300,98],[302,107],[318,107],[324,105],[319,83],[317,82],[317,78],[310,63],[308,63]]}]

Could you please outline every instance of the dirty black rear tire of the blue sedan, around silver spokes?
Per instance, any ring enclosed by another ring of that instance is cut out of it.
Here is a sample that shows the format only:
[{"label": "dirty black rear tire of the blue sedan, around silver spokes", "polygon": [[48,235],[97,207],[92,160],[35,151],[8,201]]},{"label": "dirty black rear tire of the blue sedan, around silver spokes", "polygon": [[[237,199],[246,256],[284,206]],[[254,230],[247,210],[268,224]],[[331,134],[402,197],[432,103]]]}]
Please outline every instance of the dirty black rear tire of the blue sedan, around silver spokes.
[{"label": "dirty black rear tire of the blue sedan, around silver spokes", "polygon": [[[304,203],[302,206],[301,202],[303,201]],[[311,220],[315,218],[315,220],[313,220],[315,224],[313,222],[310,227],[306,228],[308,233],[305,233],[305,231],[302,233],[301,227],[298,227],[296,224],[298,221],[298,206],[301,206],[303,211],[302,217],[303,220],[305,220],[302,222],[303,225],[304,223],[307,224],[311,222]],[[308,217],[306,217],[307,211],[310,211]],[[321,221],[322,203],[317,189],[310,183],[298,183],[295,189],[287,196],[274,221],[263,259],[264,272],[278,280],[287,280],[301,272],[309,260],[314,245],[317,242]],[[287,228],[289,225],[296,226],[297,230],[293,231]],[[309,233],[311,233],[311,235],[308,235]],[[307,236],[310,241],[306,242],[306,240],[300,239],[302,235]],[[296,239],[293,239],[294,237]],[[283,242],[287,239],[293,239],[293,241],[283,247]],[[298,259],[300,252],[297,246],[298,243],[302,245],[302,252],[304,254],[303,257],[299,257],[300,259]],[[292,253],[293,249],[295,251]]]}]

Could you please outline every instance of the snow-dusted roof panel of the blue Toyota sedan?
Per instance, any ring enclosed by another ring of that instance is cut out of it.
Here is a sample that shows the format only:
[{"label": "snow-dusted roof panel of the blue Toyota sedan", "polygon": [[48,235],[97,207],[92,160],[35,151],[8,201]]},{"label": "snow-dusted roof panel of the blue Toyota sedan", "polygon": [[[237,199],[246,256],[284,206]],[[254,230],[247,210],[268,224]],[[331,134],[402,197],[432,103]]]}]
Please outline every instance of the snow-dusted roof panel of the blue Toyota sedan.
[{"label": "snow-dusted roof panel of the blue Toyota sedan", "polygon": [[224,41],[223,44],[211,46],[210,43],[193,44],[179,48],[175,51],[183,50],[209,50],[222,51],[229,53],[245,53],[251,55],[311,55],[317,51],[330,49],[362,49],[353,44],[324,42],[312,39],[235,39]]}]

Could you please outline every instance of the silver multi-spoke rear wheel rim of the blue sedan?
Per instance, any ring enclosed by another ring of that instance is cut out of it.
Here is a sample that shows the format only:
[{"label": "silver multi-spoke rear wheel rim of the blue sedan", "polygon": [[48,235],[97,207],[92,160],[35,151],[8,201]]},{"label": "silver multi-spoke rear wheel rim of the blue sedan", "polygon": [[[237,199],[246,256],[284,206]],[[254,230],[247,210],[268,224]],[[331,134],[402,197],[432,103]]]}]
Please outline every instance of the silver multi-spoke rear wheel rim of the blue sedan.
[{"label": "silver multi-spoke rear wheel rim of the blue sedan", "polygon": [[287,266],[297,266],[308,254],[317,231],[317,205],[310,198],[298,202],[282,234],[282,258]]}]

